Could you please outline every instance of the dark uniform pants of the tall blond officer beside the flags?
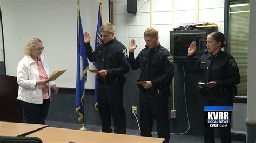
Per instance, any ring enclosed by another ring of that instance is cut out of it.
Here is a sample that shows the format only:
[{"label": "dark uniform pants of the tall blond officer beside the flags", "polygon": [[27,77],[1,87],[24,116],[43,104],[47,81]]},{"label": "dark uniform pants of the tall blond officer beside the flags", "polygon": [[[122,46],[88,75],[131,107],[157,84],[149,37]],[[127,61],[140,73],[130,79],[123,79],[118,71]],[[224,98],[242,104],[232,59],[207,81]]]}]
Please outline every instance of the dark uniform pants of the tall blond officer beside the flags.
[{"label": "dark uniform pants of the tall blond officer beside the flags", "polygon": [[102,132],[111,133],[111,116],[114,132],[126,134],[126,115],[123,107],[123,84],[115,81],[112,84],[98,83],[97,98]]}]

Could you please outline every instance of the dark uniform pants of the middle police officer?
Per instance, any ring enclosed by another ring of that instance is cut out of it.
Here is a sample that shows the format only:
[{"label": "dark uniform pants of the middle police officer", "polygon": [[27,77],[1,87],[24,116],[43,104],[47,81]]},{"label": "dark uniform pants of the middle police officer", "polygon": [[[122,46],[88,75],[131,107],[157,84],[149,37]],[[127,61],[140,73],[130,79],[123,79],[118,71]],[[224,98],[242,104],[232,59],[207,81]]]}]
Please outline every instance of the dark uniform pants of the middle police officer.
[{"label": "dark uniform pants of the middle police officer", "polygon": [[152,137],[153,119],[157,123],[157,133],[159,138],[165,138],[164,142],[170,139],[170,123],[168,119],[168,97],[164,95],[163,90],[149,93],[140,91],[140,135]]}]

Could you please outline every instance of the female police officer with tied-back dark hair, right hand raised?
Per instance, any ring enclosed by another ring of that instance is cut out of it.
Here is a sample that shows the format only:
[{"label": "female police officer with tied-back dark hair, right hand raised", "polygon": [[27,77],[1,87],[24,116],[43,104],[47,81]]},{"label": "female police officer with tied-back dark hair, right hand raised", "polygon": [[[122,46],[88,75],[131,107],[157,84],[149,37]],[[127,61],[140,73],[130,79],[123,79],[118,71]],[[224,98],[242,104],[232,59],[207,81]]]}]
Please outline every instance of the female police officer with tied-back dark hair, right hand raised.
[{"label": "female police officer with tied-back dark hair, right hand raised", "polygon": [[[226,47],[224,35],[213,32],[207,36],[207,49],[197,61],[193,61],[196,42],[192,42],[187,52],[188,68],[201,71],[201,81],[208,87],[206,92],[200,92],[203,106],[233,106],[233,87],[240,83],[240,74],[234,58],[221,51]],[[214,128],[206,128],[205,142],[214,142]],[[219,128],[221,142],[231,142],[230,128]]]}]

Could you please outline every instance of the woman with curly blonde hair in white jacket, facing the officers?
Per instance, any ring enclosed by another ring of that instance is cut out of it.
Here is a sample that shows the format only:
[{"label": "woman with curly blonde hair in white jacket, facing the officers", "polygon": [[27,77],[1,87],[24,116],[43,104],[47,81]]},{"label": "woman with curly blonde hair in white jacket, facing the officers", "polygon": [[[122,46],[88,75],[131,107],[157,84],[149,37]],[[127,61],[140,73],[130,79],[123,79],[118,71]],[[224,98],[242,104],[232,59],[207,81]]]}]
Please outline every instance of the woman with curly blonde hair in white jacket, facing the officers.
[{"label": "woman with curly blonde hair in white jacket, facing the officers", "polygon": [[49,81],[49,67],[41,55],[44,50],[42,41],[30,39],[24,49],[25,56],[17,67],[19,85],[17,99],[21,101],[24,123],[45,124],[50,105],[51,90],[57,94],[55,82]]}]

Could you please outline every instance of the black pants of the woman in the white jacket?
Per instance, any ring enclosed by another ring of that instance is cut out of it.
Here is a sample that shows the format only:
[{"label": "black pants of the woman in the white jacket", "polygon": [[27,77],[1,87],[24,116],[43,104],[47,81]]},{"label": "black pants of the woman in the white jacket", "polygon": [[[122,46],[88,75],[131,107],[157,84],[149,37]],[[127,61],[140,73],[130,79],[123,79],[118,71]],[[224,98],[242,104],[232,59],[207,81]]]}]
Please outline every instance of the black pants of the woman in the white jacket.
[{"label": "black pants of the woman in the white jacket", "polygon": [[21,101],[24,123],[45,124],[50,99],[43,100],[43,104],[33,104]]}]

